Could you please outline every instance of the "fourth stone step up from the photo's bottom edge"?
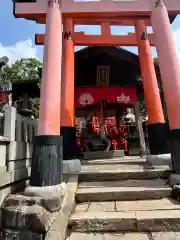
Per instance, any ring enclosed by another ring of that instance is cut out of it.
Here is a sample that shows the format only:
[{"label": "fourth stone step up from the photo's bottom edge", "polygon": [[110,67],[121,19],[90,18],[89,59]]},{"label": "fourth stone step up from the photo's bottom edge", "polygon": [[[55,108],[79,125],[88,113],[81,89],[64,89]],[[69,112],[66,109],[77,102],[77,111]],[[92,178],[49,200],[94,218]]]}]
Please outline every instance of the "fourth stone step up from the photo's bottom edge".
[{"label": "fourth stone step up from the photo's bottom edge", "polygon": [[134,164],[82,165],[79,181],[168,178],[170,173],[169,166],[153,168],[152,166]]}]

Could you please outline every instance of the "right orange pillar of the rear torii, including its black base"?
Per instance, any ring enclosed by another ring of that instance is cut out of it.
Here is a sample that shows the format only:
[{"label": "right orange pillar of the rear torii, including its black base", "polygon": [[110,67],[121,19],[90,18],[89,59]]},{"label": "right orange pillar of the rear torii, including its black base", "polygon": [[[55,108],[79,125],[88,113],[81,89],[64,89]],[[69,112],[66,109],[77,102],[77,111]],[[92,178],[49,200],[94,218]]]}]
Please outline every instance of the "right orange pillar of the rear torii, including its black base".
[{"label": "right orange pillar of the rear torii, including its black base", "polygon": [[168,126],[165,123],[159,88],[147,38],[147,29],[143,20],[135,24],[141,75],[143,79],[145,102],[148,112],[148,139],[151,155],[168,153]]}]

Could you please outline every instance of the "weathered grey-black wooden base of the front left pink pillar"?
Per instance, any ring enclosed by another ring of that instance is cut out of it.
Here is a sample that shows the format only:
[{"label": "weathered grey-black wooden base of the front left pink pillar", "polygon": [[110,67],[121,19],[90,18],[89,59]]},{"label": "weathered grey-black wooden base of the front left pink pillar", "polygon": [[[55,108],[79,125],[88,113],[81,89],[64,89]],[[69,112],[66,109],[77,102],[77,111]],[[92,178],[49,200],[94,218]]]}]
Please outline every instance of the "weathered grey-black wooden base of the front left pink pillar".
[{"label": "weathered grey-black wooden base of the front left pink pillar", "polygon": [[62,182],[61,136],[36,136],[32,156],[31,186],[53,186]]}]

